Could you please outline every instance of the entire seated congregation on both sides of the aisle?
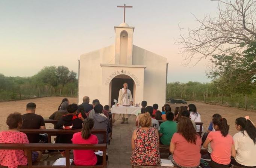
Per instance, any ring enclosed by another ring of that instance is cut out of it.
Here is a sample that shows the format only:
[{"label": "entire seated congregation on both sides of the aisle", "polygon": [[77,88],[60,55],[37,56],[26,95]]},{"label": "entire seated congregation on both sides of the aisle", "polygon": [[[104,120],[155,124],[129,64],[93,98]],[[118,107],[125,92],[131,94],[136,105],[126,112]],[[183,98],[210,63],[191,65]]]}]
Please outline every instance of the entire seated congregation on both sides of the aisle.
[{"label": "entire seated congregation on both sides of the aisle", "polygon": [[[103,135],[91,134],[92,128],[105,129],[108,142],[110,128],[108,105],[102,106],[95,99],[89,104],[89,97],[83,98],[80,105],[70,104],[63,99],[49,119],[57,120],[55,129],[81,129],[74,134],[59,134],[55,143],[98,144],[103,143]],[[175,107],[174,113],[169,104],[158,110],[158,104],[147,106],[141,102],[141,114],[135,119],[136,129],[132,133],[131,165],[160,165],[161,145],[169,149],[168,159],[176,167],[181,168],[226,168],[232,165],[240,167],[256,167],[256,128],[249,116],[235,120],[235,128],[239,131],[233,137],[229,134],[226,118],[214,114],[209,121],[209,128],[198,134],[201,115],[195,104]],[[9,114],[6,120],[8,130],[0,132],[0,143],[45,143],[45,137],[39,134],[24,134],[20,128],[45,129],[42,116],[35,114],[36,104],[28,103],[26,113]],[[164,120],[164,122],[162,122]],[[159,124],[159,121],[162,123]],[[47,135],[46,135],[47,136]],[[47,139],[47,138],[46,138]],[[207,154],[201,155],[201,148]],[[59,150],[65,156],[64,150]],[[103,157],[95,155],[96,150],[73,150],[74,164],[77,166],[102,165]],[[33,151],[32,162],[39,161],[42,151]],[[86,157],[84,157],[86,156]],[[27,165],[27,152],[23,150],[0,150],[0,165],[16,168]]]}]

